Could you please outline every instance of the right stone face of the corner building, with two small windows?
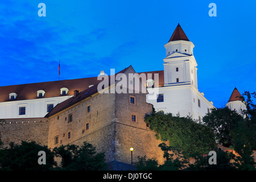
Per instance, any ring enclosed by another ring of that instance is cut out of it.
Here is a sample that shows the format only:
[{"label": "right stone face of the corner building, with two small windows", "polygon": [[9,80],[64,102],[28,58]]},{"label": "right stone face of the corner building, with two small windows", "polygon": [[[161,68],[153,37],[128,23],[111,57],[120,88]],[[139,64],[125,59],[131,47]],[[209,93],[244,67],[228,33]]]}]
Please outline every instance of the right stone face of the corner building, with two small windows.
[{"label": "right stone face of the corner building, with two small windows", "polygon": [[[130,96],[135,97],[135,104],[130,104]],[[131,163],[130,148],[134,148],[133,161],[138,156],[155,158],[160,164],[164,162],[163,151],[158,145],[155,132],[151,131],[144,122],[146,114],[151,114],[152,105],[146,103],[145,94],[116,94],[116,160]],[[137,121],[131,121],[131,114],[137,116]]]}]

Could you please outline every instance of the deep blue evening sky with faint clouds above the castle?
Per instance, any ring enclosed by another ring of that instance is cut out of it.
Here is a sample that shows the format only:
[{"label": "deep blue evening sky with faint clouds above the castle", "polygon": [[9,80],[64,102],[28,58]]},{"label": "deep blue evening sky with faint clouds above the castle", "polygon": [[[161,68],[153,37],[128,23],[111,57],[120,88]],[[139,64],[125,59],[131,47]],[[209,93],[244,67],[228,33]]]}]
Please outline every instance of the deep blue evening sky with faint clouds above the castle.
[{"label": "deep blue evening sky with faint clouds above the castle", "polygon": [[[210,17],[209,3],[217,16]],[[38,4],[46,4],[46,17]],[[195,44],[197,79],[214,106],[256,91],[255,1],[1,0],[0,86],[163,70],[177,23]]]}]

